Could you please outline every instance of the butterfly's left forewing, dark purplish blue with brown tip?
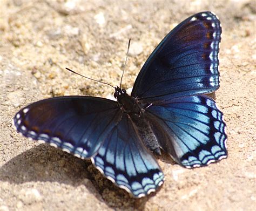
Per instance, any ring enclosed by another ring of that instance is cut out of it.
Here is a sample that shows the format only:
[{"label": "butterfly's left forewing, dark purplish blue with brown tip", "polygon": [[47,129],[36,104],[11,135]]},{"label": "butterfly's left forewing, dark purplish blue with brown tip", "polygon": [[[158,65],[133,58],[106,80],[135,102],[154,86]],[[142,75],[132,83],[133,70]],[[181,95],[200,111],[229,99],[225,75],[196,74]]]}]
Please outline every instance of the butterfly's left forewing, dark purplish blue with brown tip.
[{"label": "butterfly's left forewing, dark purplish blue with brown tip", "polygon": [[117,103],[96,97],[50,98],[30,104],[14,117],[25,137],[90,158],[122,116]]}]

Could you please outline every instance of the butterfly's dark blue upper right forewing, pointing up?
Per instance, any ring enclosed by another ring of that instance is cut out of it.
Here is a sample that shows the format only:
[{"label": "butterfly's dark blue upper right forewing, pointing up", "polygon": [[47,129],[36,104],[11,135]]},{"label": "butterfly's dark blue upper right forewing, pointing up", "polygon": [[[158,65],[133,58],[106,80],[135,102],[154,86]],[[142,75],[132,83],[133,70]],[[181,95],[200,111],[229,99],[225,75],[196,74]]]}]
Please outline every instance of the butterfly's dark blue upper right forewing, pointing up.
[{"label": "butterfly's dark blue upper right forewing, pointing up", "polygon": [[212,12],[185,19],[147,59],[131,95],[154,101],[217,90],[220,35],[220,22]]}]

